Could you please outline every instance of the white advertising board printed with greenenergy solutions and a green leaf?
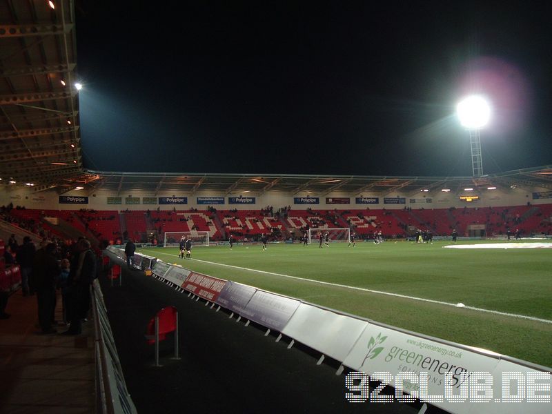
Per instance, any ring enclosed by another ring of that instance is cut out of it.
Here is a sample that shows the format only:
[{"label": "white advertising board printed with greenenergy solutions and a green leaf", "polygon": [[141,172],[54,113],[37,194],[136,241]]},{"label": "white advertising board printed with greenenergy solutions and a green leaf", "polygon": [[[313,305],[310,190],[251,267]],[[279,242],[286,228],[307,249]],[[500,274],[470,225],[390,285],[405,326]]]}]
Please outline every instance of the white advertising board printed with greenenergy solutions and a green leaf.
[{"label": "white advertising board printed with greenenergy solutions and a green leaf", "polygon": [[[343,364],[355,371],[363,371],[375,380],[386,384],[391,381],[374,374],[390,373],[394,378],[402,372],[411,372],[418,376],[420,372],[427,372],[427,395],[444,395],[445,374],[450,371],[453,375],[449,380],[450,385],[453,387],[453,393],[457,395],[460,392],[458,388],[465,386],[466,381],[469,382],[468,373],[473,371],[491,373],[496,368],[498,359],[369,324]],[[405,380],[403,389],[408,394],[413,391],[419,393],[420,384]],[[480,406],[480,404],[467,402],[464,404],[433,402],[432,404],[451,413],[469,413],[474,406]]]}]

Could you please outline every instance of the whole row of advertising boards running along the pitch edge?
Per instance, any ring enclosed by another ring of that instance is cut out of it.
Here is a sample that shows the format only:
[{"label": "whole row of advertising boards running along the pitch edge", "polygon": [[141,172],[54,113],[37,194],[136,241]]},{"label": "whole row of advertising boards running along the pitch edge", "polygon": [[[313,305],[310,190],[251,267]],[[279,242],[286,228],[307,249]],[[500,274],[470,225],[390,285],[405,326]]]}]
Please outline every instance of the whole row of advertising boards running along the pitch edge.
[{"label": "whole row of advertising boards running along the pitch edge", "polygon": [[[212,302],[211,308],[216,304],[228,309],[230,317],[246,319],[246,326],[252,321],[266,327],[265,335],[276,331],[277,341],[286,335],[288,348],[297,341],[318,351],[318,364],[324,357],[337,360],[341,366],[336,375],[347,367],[395,388],[400,378],[400,389],[407,397],[421,397],[450,413],[480,412],[481,403],[489,403],[485,413],[551,412],[551,368],[546,366],[201,275],[159,259],[152,274],[196,300],[205,299],[206,305]],[[492,397],[502,396],[505,390],[510,394],[502,399]],[[531,404],[521,406],[522,402]]]}]

